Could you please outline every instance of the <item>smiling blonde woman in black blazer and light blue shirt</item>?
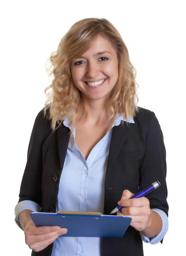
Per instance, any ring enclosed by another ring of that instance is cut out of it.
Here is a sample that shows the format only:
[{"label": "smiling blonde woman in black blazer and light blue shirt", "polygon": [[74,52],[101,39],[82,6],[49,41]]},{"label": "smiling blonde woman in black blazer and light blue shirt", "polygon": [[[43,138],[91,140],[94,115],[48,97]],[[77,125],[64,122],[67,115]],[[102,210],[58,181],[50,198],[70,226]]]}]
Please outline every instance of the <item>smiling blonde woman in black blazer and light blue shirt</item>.
[{"label": "smiling blonde woman in black blazer and light blue shirt", "polygon": [[[32,255],[142,256],[142,240],[162,242],[168,228],[166,153],[155,114],[137,107],[135,69],[106,19],[75,23],[51,55],[54,80],[34,123],[15,208]],[[159,180],[147,197],[130,199]],[[121,199],[121,201],[119,201]],[[118,202],[119,201],[119,202]],[[35,227],[33,211],[95,211],[132,222],[123,238],[63,237]],[[54,242],[54,243],[53,243]]]}]

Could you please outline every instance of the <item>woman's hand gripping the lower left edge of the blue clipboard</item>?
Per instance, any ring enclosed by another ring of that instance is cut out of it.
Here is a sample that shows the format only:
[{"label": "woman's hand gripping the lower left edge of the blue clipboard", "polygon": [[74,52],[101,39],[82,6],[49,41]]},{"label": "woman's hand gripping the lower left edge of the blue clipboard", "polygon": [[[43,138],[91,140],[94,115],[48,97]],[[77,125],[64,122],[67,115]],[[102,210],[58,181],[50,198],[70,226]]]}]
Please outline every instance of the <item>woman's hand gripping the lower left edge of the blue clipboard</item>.
[{"label": "woman's hand gripping the lower left edge of the blue clipboard", "polygon": [[58,236],[67,233],[66,228],[57,226],[53,227],[36,227],[32,220],[29,220],[24,228],[25,243],[35,252],[45,249],[53,243]]}]

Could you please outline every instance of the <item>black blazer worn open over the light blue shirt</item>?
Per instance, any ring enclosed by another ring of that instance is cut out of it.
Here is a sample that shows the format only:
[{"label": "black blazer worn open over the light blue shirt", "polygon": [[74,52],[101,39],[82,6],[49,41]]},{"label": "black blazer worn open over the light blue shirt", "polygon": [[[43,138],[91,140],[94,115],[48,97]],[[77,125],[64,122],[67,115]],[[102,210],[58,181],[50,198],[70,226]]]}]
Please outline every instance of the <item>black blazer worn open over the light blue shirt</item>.
[{"label": "black blazer worn open over the light blue shirt", "polygon": [[[135,123],[113,127],[104,187],[104,214],[116,207],[124,189],[132,193],[159,180],[161,186],[147,195],[150,208],[168,215],[166,187],[166,151],[163,134],[155,114],[144,108]],[[56,212],[59,180],[69,141],[69,128],[63,124],[51,131],[51,121],[43,110],[36,117],[28,146],[28,160],[20,188],[20,201],[31,200],[42,212]],[[129,227],[122,238],[102,238],[102,256],[143,256],[140,234]],[[162,241],[161,241],[162,242]],[[51,255],[53,244],[33,256]],[[70,255],[69,255],[70,256]]]}]

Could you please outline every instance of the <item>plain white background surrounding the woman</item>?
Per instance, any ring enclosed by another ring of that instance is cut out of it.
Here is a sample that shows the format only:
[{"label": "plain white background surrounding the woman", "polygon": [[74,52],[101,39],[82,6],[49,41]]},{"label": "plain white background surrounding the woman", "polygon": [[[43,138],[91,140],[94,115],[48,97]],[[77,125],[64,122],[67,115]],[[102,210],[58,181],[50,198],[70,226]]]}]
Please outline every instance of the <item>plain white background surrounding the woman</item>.
[{"label": "plain white background surrounding the woman", "polygon": [[[137,69],[139,106],[154,111],[167,152],[169,230],[144,255],[185,255],[185,1],[4,1],[0,6],[0,196],[2,255],[31,255],[14,222],[28,142],[49,85],[45,61],[70,26],[110,20]],[[118,198],[119,199],[119,198]]]}]

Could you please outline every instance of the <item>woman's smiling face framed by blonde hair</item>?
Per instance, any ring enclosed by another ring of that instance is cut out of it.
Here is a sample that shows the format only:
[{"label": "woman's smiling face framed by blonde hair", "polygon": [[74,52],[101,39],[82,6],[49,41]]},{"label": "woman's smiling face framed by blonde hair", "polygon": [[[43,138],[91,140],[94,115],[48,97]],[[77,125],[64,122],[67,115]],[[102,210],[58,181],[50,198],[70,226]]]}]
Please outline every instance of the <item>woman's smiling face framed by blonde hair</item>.
[{"label": "woman's smiling face framed by blonde hair", "polygon": [[118,79],[116,50],[106,38],[98,35],[82,56],[73,59],[70,69],[84,99],[108,99]]}]

